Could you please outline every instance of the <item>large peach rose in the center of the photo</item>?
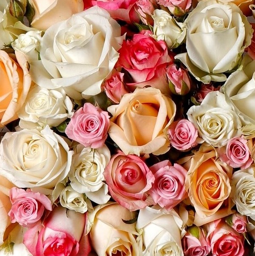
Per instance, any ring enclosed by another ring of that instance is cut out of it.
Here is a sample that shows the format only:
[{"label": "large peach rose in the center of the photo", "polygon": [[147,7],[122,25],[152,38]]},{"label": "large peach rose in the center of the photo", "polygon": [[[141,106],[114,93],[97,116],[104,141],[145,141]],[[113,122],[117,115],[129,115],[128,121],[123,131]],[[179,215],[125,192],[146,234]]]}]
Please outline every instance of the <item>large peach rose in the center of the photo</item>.
[{"label": "large peach rose in the center of the photo", "polygon": [[109,106],[108,112],[113,115],[109,135],[126,155],[159,155],[169,150],[165,134],[176,105],[159,89],[137,88],[123,95],[119,105]]}]

